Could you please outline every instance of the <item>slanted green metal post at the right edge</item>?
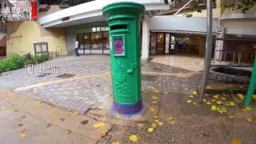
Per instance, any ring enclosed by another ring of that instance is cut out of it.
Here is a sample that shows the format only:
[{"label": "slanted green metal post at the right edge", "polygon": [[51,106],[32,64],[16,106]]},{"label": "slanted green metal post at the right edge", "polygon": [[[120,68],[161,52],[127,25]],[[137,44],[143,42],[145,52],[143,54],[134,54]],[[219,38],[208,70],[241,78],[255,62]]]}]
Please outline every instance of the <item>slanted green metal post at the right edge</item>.
[{"label": "slanted green metal post at the right edge", "polygon": [[250,78],[250,86],[249,86],[249,90],[247,91],[247,95],[246,95],[245,106],[250,106],[250,102],[254,96],[255,82],[256,82],[256,55],[254,58],[254,69],[253,69],[253,72],[252,72],[251,78]]}]

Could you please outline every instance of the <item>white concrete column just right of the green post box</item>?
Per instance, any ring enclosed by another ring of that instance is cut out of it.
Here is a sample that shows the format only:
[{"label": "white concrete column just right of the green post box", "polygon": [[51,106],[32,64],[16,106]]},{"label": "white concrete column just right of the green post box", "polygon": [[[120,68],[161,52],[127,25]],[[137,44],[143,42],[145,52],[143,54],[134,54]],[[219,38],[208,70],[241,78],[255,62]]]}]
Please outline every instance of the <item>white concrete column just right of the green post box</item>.
[{"label": "white concrete column just right of the green post box", "polygon": [[150,28],[147,19],[148,17],[145,16],[142,21],[142,60],[149,58],[150,51]]}]

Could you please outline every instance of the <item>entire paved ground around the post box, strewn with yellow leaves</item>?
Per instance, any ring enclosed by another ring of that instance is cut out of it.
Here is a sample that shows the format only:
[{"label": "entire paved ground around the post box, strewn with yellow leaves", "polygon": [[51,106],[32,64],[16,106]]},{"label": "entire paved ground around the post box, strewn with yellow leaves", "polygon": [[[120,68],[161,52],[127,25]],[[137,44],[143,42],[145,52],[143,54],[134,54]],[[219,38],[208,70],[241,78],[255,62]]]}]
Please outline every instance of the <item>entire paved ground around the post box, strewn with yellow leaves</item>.
[{"label": "entire paved ground around the post box, strewn with yellow leaves", "polygon": [[[5,89],[0,90],[0,139],[3,143],[133,143],[129,137],[134,134],[138,143],[256,142],[255,101],[250,111],[243,110],[243,100],[236,101],[230,94],[218,98],[211,94],[205,98],[211,105],[198,104],[197,96],[189,96],[199,84],[200,73],[156,62],[142,63],[144,111],[133,120],[115,118],[106,105],[112,99],[106,55],[57,58],[42,64],[60,66],[61,74],[74,74],[71,78],[56,78],[60,74],[26,76],[24,69],[5,73],[0,77],[0,89]],[[222,104],[216,103],[219,101]],[[227,106],[229,102],[235,102],[235,106]],[[75,115],[58,106],[88,111]],[[210,110],[211,106],[226,107],[227,112],[218,113]],[[97,122],[104,122],[104,126],[93,129]],[[154,128],[151,133],[150,127]],[[20,138],[22,132],[26,138]],[[106,133],[103,138],[102,132]]]}]

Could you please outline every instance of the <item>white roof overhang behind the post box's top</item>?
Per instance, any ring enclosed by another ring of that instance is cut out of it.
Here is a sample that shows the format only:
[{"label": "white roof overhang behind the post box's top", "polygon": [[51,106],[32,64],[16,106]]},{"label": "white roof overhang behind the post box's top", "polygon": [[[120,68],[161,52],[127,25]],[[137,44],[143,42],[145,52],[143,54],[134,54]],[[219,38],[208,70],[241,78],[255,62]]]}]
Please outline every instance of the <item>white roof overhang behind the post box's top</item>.
[{"label": "white roof overhang behind the post box's top", "polygon": [[[113,2],[122,1],[141,3],[146,7],[146,12],[149,12],[147,14],[151,14],[150,16],[162,10],[169,10],[170,8],[170,6],[165,5],[160,0],[96,0],[46,15],[45,17],[39,18],[39,23],[43,27],[66,27],[106,21],[106,18],[102,16],[102,7]],[[150,13],[150,11],[153,11],[153,13]]]}]

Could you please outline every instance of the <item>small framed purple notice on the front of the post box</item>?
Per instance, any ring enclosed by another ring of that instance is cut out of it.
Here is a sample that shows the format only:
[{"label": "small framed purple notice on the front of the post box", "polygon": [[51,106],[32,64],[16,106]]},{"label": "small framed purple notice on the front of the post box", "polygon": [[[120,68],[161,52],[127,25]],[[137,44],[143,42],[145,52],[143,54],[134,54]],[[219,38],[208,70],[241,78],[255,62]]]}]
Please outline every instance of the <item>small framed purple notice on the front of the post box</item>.
[{"label": "small framed purple notice on the front of the post box", "polygon": [[114,55],[125,55],[124,38],[114,37]]}]

